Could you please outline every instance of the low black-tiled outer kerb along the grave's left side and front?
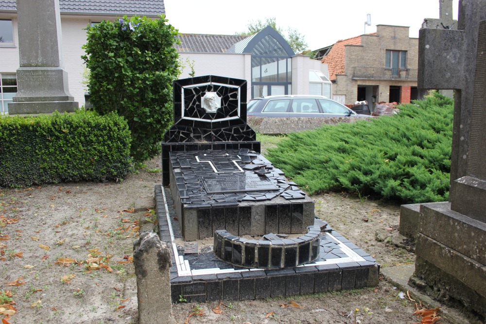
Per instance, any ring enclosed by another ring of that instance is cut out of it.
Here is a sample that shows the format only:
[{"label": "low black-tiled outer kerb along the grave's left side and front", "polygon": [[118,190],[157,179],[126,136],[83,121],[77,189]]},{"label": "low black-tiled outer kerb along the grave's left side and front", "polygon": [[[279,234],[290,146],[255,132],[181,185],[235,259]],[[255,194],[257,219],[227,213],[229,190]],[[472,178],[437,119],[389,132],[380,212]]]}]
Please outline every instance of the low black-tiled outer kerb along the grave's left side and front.
[{"label": "low black-tiled outer kerb along the grave's left side and front", "polygon": [[[162,197],[162,187],[155,186],[159,236],[168,246],[172,240]],[[167,197],[168,200],[171,197]],[[169,201],[168,205],[172,203]],[[171,210],[169,209],[169,212]],[[175,215],[170,214],[171,217]],[[177,222],[175,222],[177,226]],[[174,235],[179,231],[174,228]],[[345,244],[349,241],[332,231],[334,237]],[[179,234],[180,235],[180,234]],[[179,236],[180,237],[180,236]],[[352,243],[351,243],[352,244]],[[361,251],[362,250],[353,250]],[[232,273],[178,276],[175,256],[172,253],[171,294],[172,302],[206,303],[219,300],[251,300],[267,297],[312,294],[325,291],[374,287],[378,281],[379,265],[363,253],[365,261],[330,265],[299,266],[290,269],[251,270]],[[374,278],[376,276],[376,278]]]}]

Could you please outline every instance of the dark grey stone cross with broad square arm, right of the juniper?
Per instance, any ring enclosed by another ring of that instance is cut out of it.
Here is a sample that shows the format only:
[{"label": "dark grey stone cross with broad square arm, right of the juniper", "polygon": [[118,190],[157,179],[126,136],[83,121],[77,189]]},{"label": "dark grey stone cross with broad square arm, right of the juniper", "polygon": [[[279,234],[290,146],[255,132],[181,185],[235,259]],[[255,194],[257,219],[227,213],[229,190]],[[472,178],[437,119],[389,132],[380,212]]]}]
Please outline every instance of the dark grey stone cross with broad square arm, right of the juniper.
[{"label": "dark grey stone cross with broad square arm, right of the juniper", "polygon": [[[440,2],[441,18],[448,17],[445,26],[451,22],[451,2]],[[426,24],[418,38],[418,88],[455,90],[451,186],[467,173],[477,33],[479,21],[486,19],[486,1],[460,0],[458,17],[457,30]]]}]

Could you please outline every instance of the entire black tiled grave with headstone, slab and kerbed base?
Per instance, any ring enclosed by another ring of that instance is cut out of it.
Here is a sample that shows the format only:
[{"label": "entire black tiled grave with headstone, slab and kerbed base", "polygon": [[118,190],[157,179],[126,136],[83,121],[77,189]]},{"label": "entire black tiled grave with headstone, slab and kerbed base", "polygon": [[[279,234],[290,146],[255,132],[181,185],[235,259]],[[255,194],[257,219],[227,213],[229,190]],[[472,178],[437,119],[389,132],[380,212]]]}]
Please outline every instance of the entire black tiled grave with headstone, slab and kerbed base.
[{"label": "entire black tiled grave with headstone, slab and kerbed base", "polygon": [[166,188],[156,186],[160,238],[173,251],[173,302],[376,285],[376,261],[314,219],[312,199],[259,153],[245,101],[244,80],[174,82],[174,126],[162,143]]}]

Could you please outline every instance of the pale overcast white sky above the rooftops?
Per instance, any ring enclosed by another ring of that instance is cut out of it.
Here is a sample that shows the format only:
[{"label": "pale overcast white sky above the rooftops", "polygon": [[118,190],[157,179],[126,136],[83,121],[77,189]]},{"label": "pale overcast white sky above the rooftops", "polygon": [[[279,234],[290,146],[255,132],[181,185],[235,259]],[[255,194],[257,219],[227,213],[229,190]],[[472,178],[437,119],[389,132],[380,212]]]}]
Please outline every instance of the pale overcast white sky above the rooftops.
[{"label": "pale overcast white sky above the rooftops", "polygon": [[[410,37],[418,37],[424,18],[439,17],[439,0],[164,0],[169,23],[184,34],[225,34],[247,30],[250,21],[275,17],[286,31],[297,29],[311,50],[334,44],[340,39],[364,34],[366,14],[376,25],[410,27]],[[457,19],[459,0],[453,0]]]}]

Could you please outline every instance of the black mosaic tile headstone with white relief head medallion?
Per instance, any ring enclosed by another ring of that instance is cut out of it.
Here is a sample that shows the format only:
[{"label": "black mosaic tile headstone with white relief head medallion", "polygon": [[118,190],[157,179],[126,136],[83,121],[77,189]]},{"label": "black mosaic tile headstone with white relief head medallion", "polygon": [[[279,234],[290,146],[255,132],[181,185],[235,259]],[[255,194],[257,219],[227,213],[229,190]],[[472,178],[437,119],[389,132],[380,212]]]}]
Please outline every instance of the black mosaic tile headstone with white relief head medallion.
[{"label": "black mosaic tile headstone with white relief head medallion", "polygon": [[260,152],[246,124],[246,81],[206,75],[174,81],[174,125],[162,143],[162,182],[169,185],[169,153],[240,150]]}]

